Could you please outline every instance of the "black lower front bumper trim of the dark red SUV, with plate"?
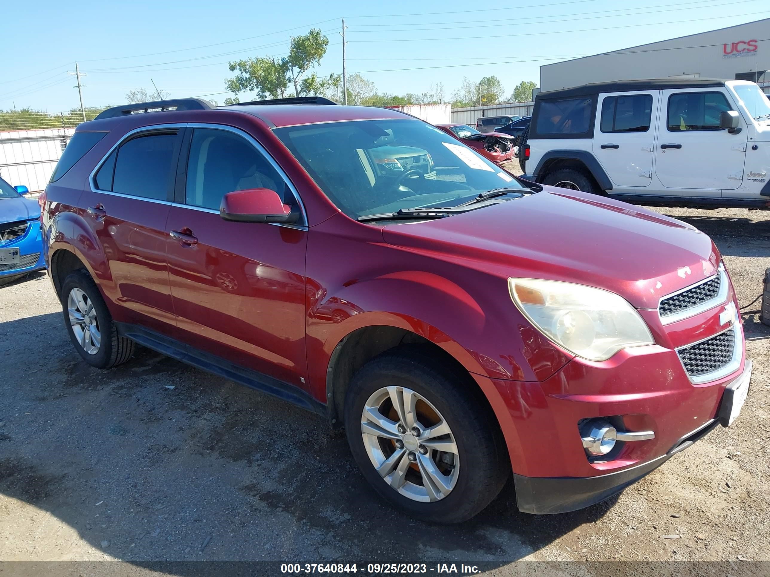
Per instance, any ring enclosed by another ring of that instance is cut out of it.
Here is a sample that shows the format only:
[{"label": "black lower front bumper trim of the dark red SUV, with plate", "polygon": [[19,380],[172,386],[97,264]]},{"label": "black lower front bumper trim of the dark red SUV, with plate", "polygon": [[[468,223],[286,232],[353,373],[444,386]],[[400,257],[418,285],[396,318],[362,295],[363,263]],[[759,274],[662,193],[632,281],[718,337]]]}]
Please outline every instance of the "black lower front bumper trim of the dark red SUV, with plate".
[{"label": "black lower front bumper trim of the dark red SUV, with plate", "polygon": [[[725,390],[736,384],[745,384],[748,388],[751,376],[752,362],[747,361],[742,372],[731,380]],[[732,395],[723,395],[712,419],[682,435],[664,455],[627,469],[591,477],[528,477],[514,473],[518,509],[547,515],[576,511],[604,501],[654,471],[676,453],[687,449],[717,425],[728,426],[732,403]]]}]

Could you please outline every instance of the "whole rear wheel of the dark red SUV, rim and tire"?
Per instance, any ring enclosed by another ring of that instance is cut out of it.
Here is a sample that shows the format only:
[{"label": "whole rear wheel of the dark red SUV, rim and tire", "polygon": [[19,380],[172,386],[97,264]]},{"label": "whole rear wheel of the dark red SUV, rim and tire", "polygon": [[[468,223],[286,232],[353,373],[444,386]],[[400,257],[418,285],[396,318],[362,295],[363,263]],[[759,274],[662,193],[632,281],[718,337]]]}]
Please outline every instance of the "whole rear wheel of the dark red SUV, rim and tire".
[{"label": "whole rear wheel of the dark red SUV, rim and tire", "polygon": [[85,362],[109,369],[131,358],[134,342],[118,334],[99,288],[87,272],[75,271],[64,279],[61,300],[69,339]]}]

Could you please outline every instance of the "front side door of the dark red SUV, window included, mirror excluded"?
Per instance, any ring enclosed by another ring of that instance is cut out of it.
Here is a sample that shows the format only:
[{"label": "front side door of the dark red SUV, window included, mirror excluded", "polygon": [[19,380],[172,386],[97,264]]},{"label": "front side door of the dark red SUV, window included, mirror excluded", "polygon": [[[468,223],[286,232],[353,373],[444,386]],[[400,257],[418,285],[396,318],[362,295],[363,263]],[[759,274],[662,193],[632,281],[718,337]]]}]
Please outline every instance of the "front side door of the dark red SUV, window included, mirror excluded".
[{"label": "front side door of the dark red SUV, window included, mirror excluded", "polygon": [[304,216],[229,222],[227,192],[270,188],[300,204],[266,151],[237,128],[189,125],[166,225],[179,337],[196,349],[305,388]]}]

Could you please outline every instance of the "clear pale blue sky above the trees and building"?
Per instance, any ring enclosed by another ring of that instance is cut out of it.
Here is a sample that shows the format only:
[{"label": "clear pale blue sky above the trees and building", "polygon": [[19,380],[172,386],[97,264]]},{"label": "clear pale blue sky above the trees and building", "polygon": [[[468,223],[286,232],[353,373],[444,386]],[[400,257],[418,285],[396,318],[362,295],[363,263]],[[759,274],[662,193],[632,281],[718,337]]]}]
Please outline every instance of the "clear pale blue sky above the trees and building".
[{"label": "clear pale blue sky above the trees and building", "polygon": [[[446,97],[464,76],[496,75],[506,93],[539,84],[539,66],[578,56],[705,32],[770,16],[767,0],[521,0],[510,8],[458,0],[426,2],[6,2],[0,45],[0,109],[55,113],[120,104],[152,80],[171,98],[228,94],[227,62],[283,55],[291,35],[320,28],[330,47],[317,72],[347,72],[380,92],[423,92],[442,82]],[[404,69],[412,68],[412,69]],[[243,100],[243,95],[241,96]]]}]

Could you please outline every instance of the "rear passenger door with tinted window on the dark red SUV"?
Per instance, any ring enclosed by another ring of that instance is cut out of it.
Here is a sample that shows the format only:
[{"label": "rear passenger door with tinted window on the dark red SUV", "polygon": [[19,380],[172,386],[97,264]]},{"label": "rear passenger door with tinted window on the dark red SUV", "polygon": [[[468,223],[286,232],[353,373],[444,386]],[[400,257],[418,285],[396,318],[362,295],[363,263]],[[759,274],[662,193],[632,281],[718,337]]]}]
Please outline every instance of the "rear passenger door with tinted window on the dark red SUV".
[{"label": "rear passenger door with tinted window on the dark red SUV", "polygon": [[116,321],[176,327],[166,264],[166,218],[183,125],[140,128],[114,145],[80,197],[109,271],[98,272]]}]

